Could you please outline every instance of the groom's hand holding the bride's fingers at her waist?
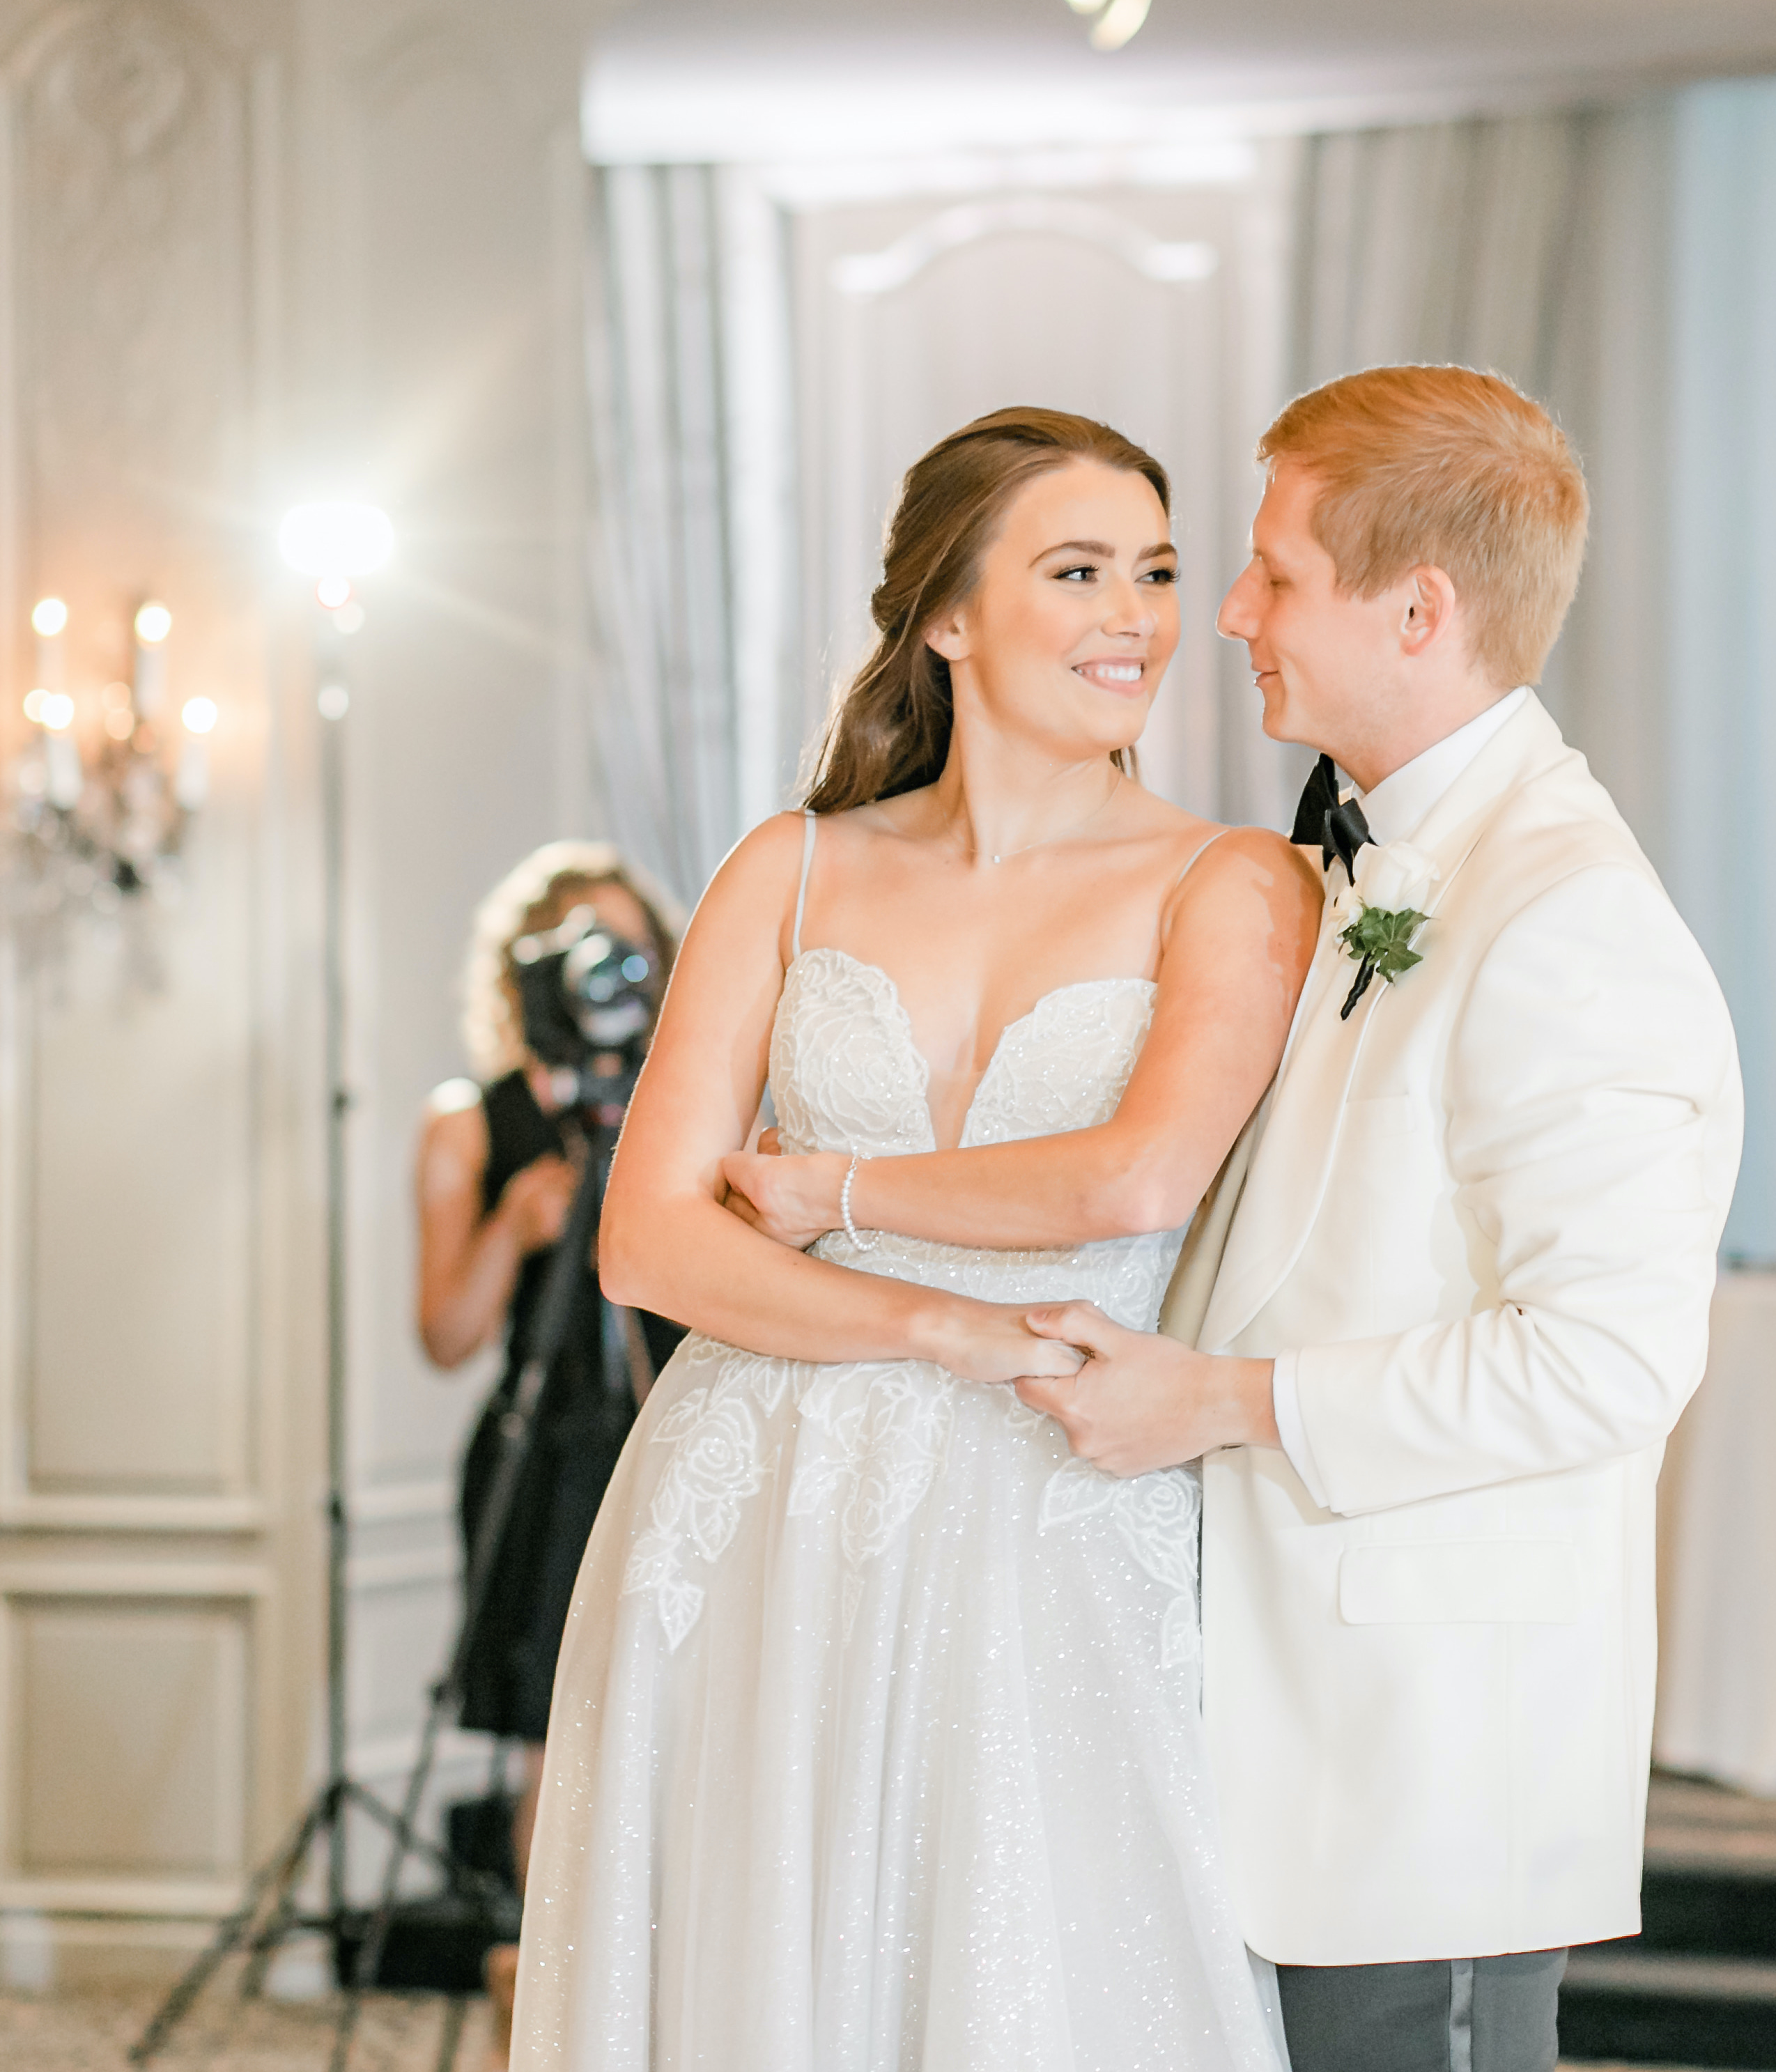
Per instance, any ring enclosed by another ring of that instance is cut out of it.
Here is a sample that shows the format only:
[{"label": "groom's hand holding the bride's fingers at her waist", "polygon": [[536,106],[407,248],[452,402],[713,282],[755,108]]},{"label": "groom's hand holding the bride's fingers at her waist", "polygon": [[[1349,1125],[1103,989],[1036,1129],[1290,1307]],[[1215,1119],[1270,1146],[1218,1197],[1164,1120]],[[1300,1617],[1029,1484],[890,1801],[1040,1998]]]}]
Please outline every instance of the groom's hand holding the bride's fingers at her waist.
[{"label": "groom's hand holding the bride's fingers at her waist", "polygon": [[1268,1359],[1227,1359],[1123,1330],[1088,1301],[1024,1316],[1038,1336],[1076,1345],[1086,1363],[1071,1380],[1026,1376],[1018,1394],[1047,1411],[1073,1452],[1107,1475],[1179,1467],[1216,1446],[1281,1444]]}]

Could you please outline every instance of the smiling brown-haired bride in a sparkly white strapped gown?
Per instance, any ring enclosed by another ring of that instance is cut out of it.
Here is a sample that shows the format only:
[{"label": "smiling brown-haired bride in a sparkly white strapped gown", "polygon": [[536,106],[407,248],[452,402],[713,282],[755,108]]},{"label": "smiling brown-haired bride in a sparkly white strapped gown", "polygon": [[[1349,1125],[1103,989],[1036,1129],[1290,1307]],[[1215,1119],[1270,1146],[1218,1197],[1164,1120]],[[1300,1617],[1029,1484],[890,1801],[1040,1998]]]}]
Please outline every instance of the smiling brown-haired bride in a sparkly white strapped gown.
[{"label": "smiling brown-haired bride in a sparkly white strapped gown", "polygon": [[[933,448],[808,812],[690,924],[599,1274],[694,1334],[562,1645],[516,2072],[1279,2064],[1204,1772],[1196,1479],[1102,1475],[1003,1386],[1080,1361],[1032,1303],[1152,1326],[1318,918],[1281,837],[1132,775],[1167,512],[1086,419]],[[860,1229],[850,1187],[808,1256],[748,1229],[721,1167],[767,1080],[850,1181],[1051,1138],[999,1233],[1028,1249]]]}]

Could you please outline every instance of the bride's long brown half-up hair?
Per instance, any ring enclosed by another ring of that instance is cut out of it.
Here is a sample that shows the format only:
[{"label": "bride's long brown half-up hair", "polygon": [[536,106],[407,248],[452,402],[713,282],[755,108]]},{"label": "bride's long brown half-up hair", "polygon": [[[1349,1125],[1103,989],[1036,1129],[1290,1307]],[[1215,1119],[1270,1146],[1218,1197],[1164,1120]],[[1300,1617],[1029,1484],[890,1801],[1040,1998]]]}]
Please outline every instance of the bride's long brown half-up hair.
[{"label": "bride's long brown half-up hair", "polygon": [[[1011,497],[1071,460],[1146,477],[1171,516],[1171,483],[1152,454],[1069,410],[995,410],[908,468],[883,580],[870,595],[881,638],[833,707],[806,798],[810,812],[846,812],[937,781],[949,754],[951,692],[949,663],[926,646],[926,630],[974,593]],[[1121,748],[1111,760],[1127,767]]]}]

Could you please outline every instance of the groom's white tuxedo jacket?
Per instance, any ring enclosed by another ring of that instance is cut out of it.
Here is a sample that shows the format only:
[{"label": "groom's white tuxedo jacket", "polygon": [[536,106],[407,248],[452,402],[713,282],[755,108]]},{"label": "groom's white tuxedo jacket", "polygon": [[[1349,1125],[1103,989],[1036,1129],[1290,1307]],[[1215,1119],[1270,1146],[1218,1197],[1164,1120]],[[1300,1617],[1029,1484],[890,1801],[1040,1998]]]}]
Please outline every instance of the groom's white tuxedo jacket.
[{"label": "groom's white tuxedo jacket", "polygon": [[1200,1336],[1301,1349],[1328,1506],[1204,1461],[1212,1767],[1291,1964],[1639,1927],[1654,1481],[1739,1169],[1714,974],[1534,696],[1411,843],[1424,961],[1341,1021],[1328,901]]}]

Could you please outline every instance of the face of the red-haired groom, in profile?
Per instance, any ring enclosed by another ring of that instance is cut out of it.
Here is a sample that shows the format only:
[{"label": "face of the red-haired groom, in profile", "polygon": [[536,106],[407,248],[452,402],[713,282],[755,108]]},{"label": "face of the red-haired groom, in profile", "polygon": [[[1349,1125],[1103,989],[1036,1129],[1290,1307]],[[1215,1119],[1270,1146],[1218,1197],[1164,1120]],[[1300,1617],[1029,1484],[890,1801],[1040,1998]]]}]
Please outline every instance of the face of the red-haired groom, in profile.
[{"label": "face of the red-haired groom, in profile", "polygon": [[1393,593],[1353,597],[1314,539],[1316,479],[1289,460],[1252,520],[1252,559],[1221,603],[1216,628],[1243,640],[1264,700],[1264,731],[1277,742],[1349,752],[1384,721],[1399,669],[1399,603]]}]

